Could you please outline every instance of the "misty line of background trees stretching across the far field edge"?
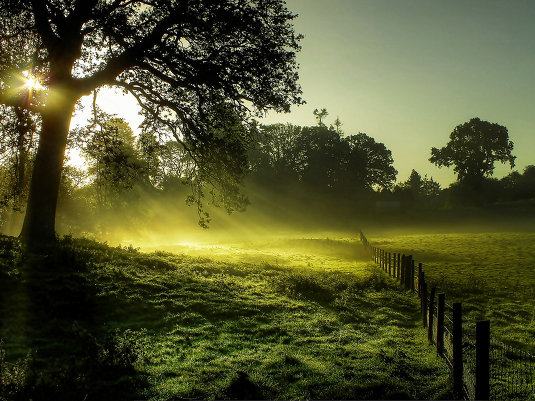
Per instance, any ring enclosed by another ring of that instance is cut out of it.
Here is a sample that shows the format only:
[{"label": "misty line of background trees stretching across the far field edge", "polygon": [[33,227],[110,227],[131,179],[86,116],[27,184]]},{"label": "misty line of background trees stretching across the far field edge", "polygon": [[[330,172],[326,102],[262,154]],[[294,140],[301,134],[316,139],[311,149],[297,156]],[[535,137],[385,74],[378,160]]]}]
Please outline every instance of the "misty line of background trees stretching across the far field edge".
[{"label": "misty line of background trees stretching across the far field edge", "polygon": [[[224,146],[217,153],[208,152],[199,163],[179,141],[162,139],[153,125],[143,124],[136,137],[124,120],[105,113],[94,102],[93,117],[70,133],[67,144],[80,150],[87,168],[68,164],[64,168],[60,206],[70,210],[71,217],[80,209],[93,215],[129,210],[136,216],[142,213],[136,213],[133,204],[141,193],[174,194],[194,205],[200,225],[207,227],[206,201],[228,212],[246,208],[244,178],[248,185],[266,192],[292,196],[307,191],[318,197],[371,203],[396,200],[409,208],[535,197],[535,166],[501,179],[491,177],[496,161],[514,166],[513,144],[507,129],[498,124],[472,119],[453,130],[446,146],[431,149],[431,162],[453,166],[458,175],[457,182],[442,188],[416,170],[406,181],[397,182],[392,152],[383,143],[365,133],[345,135],[339,118],[327,127],[325,109],[315,110],[314,115],[317,125],[301,127],[256,121],[244,125],[230,114],[225,125],[214,131],[220,136],[241,135],[244,140],[229,146],[226,153]],[[4,108],[3,116],[0,175],[5,219],[11,210],[24,210],[40,121],[24,110]]]}]

